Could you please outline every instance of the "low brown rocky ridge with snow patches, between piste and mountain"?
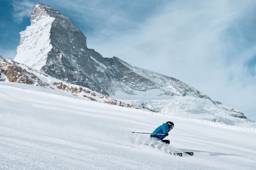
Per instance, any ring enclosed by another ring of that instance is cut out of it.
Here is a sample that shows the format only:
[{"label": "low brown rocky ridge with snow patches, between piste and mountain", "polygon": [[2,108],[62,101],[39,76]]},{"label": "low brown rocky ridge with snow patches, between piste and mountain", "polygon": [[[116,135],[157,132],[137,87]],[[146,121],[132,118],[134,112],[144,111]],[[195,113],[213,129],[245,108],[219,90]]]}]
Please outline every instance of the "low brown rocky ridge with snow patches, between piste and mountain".
[{"label": "low brown rocky ridge with snow patches, between piste and mountain", "polygon": [[134,106],[132,104],[110,98],[86,87],[63,82],[40,71],[34,70],[24,64],[17,63],[10,59],[4,59],[2,56],[0,56],[0,81],[35,85],[52,90],[60,89],[73,96],[85,98],[87,100],[122,107],[150,110],[144,106]]}]

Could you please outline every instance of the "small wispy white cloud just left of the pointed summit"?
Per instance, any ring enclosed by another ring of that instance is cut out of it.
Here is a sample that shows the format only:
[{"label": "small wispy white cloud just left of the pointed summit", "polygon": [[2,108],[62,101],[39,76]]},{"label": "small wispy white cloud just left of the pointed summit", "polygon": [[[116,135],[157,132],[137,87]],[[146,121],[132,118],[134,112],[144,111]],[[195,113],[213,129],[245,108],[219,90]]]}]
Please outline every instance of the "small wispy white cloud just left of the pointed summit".
[{"label": "small wispy white cloud just left of the pointed summit", "polygon": [[23,21],[24,17],[29,17],[31,10],[34,6],[34,2],[24,0],[24,1],[17,1],[14,0],[12,2],[13,6],[13,19],[15,22],[20,23]]}]

